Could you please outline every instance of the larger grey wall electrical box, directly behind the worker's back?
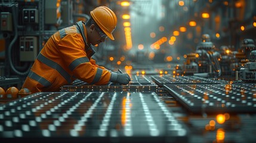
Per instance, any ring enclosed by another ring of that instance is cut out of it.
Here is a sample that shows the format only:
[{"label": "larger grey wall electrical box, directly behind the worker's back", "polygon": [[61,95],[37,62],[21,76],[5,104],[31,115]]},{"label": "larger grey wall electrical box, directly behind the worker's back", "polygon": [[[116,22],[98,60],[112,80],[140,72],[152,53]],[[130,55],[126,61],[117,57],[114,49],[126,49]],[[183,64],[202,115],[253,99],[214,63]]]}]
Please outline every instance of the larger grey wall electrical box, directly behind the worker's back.
[{"label": "larger grey wall electrical box, directly behind the worker's back", "polygon": [[20,61],[35,61],[38,55],[38,38],[35,36],[20,37]]}]

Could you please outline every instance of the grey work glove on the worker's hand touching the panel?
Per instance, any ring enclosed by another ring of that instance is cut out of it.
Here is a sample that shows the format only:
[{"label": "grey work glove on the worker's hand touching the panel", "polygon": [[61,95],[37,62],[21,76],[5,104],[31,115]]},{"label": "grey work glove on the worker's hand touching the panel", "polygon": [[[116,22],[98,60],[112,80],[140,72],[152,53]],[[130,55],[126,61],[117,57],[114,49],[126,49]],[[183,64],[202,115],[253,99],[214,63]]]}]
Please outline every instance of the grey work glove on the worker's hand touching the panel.
[{"label": "grey work glove on the worker's hand touching the panel", "polygon": [[131,81],[131,77],[127,73],[111,73],[111,82],[117,82],[122,85],[127,85]]}]

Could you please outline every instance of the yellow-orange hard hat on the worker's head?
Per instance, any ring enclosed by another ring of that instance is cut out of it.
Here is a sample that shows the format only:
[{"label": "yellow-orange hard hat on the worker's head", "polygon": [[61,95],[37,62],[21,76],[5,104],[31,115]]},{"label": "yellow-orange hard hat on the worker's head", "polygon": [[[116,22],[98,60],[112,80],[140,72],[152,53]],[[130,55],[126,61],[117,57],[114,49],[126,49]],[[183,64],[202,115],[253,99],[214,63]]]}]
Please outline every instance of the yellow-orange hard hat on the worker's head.
[{"label": "yellow-orange hard hat on the worker's head", "polygon": [[112,32],[115,30],[118,20],[112,10],[100,6],[91,11],[91,17],[110,39],[115,40]]}]

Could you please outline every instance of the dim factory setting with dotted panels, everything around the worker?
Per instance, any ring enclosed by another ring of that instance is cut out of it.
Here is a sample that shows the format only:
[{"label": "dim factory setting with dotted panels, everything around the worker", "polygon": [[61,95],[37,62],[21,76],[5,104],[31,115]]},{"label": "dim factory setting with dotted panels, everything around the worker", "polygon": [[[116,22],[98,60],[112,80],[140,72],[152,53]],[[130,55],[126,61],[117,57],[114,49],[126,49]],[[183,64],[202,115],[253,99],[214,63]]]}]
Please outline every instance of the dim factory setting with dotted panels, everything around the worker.
[{"label": "dim factory setting with dotted panels, everything around the worker", "polygon": [[[95,45],[92,58],[131,82],[21,89],[48,38],[101,5],[118,25],[115,41]],[[0,140],[256,141],[255,7],[253,0],[1,0]]]}]

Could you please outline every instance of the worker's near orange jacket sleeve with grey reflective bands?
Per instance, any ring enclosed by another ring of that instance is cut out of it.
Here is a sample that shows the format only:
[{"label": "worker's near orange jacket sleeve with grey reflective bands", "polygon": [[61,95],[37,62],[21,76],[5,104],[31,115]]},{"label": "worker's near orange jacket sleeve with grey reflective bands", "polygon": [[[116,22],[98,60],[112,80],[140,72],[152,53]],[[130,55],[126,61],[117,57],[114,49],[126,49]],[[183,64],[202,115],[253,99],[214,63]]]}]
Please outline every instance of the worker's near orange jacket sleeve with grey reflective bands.
[{"label": "worker's near orange jacket sleeve with grey reflective bands", "polygon": [[73,76],[95,85],[106,85],[109,82],[112,73],[88,59],[81,35],[66,35],[57,44],[61,57]]}]

